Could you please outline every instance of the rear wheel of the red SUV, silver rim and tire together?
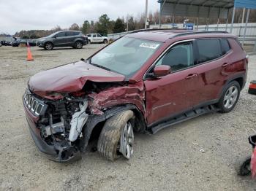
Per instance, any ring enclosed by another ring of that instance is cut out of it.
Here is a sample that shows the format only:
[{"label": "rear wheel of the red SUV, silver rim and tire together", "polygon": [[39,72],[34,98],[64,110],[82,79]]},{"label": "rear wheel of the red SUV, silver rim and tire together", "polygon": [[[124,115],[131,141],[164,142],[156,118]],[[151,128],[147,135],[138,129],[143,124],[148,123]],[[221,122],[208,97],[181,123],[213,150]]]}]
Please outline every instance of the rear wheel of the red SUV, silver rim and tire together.
[{"label": "rear wheel of the red SUV, silver rim and tire together", "polygon": [[232,109],[236,106],[236,103],[240,96],[240,90],[241,87],[236,81],[230,82],[227,87],[225,87],[222,97],[217,104],[220,109],[219,112],[227,113],[232,111]]}]

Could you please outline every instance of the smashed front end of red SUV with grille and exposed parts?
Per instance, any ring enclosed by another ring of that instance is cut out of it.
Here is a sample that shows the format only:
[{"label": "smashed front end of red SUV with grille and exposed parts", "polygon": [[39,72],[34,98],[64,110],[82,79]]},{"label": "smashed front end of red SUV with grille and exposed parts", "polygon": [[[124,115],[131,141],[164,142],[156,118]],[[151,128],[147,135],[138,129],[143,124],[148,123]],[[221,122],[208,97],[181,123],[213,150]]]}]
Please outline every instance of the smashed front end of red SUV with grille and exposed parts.
[{"label": "smashed front end of red SUV with grille and exposed parts", "polygon": [[42,152],[47,151],[45,153],[53,155],[52,160],[62,163],[80,159],[78,145],[89,117],[86,114],[88,98],[67,95],[51,101],[26,90],[23,104],[36,119],[32,123],[27,117],[29,125],[33,126],[30,128],[34,141]]}]

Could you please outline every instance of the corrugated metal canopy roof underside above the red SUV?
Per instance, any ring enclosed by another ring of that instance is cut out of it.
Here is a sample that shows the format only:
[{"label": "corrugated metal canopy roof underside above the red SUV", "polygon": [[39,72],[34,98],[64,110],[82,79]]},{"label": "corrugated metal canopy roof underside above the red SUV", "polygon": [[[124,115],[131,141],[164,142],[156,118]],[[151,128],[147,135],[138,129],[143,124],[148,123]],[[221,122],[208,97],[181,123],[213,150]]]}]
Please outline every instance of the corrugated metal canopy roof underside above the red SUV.
[{"label": "corrugated metal canopy roof underside above the red SUV", "polygon": [[227,18],[234,0],[159,0],[160,15]]}]

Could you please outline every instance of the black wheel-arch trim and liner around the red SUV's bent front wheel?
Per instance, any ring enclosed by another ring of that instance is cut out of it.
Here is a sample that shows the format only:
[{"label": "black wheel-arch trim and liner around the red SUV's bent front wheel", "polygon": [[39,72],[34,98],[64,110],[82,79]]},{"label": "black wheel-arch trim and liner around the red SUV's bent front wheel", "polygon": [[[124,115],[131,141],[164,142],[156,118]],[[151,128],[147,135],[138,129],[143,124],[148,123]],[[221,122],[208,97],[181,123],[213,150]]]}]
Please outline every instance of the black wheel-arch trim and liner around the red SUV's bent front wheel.
[{"label": "black wheel-arch trim and liner around the red SUV's bent front wheel", "polygon": [[108,120],[108,118],[120,113],[124,112],[126,110],[132,110],[135,112],[136,119],[138,120],[135,123],[138,124],[136,127],[137,131],[144,131],[146,130],[146,122],[143,117],[143,114],[140,112],[137,106],[133,104],[127,104],[127,105],[121,105],[121,106],[116,106],[113,108],[110,108],[106,110],[103,114],[91,114],[89,115],[89,119],[86,122],[86,125],[83,127],[83,139],[80,141],[80,151],[85,152],[86,147],[89,144],[89,139],[91,137],[91,132],[94,130],[94,128],[97,126],[99,122],[103,122],[105,120]]}]

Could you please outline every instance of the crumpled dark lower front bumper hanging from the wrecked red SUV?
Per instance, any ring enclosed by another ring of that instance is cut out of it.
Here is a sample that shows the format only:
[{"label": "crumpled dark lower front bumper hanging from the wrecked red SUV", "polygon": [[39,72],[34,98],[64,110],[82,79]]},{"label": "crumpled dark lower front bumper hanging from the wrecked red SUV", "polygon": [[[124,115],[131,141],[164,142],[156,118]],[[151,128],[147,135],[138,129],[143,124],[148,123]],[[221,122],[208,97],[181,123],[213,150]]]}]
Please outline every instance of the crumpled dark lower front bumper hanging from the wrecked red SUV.
[{"label": "crumpled dark lower front bumper hanging from the wrecked red SUV", "polygon": [[[76,160],[80,160],[81,155],[80,151],[74,147],[59,147],[56,145],[48,145],[41,137],[40,130],[37,128],[36,122],[39,120],[39,117],[34,116],[29,112],[29,109],[26,108],[26,105],[23,102],[26,120],[29,125],[29,130],[32,138],[34,139],[35,144],[38,149],[47,154],[50,160],[59,162],[59,163],[72,163]],[[63,153],[68,153],[69,157],[67,159],[62,159]]]}]

